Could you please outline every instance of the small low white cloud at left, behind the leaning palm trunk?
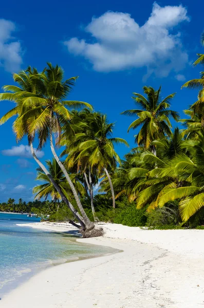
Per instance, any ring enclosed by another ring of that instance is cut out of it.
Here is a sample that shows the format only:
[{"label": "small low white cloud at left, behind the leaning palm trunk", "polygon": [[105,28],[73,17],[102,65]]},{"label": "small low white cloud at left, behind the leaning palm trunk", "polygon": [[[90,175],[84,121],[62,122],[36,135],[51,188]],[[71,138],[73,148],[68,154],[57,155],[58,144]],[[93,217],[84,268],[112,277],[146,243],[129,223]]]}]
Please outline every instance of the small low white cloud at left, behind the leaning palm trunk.
[{"label": "small low white cloud at left, behind the leaning palm trunk", "polygon": [[[39,158],[44,156],[43,151],[38,151],[36,148],[34,148],[34,151],[36,153],[36,156]],[[2,150],[2,154],[4,156],[20,156],[25,158],[32,158],[32,154],[30,151],[30,147],[28,145],[18,145],[18,146],[12,146],[11,149]]]}]

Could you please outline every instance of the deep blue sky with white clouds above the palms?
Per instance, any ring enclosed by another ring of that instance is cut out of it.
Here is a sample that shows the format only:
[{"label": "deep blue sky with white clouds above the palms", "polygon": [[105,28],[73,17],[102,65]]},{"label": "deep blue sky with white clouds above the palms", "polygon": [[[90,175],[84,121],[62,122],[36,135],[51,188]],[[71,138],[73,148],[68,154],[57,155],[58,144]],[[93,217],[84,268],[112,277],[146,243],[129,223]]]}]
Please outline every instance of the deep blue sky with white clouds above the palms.
[{"label": "deep blue sky with white clouds above the palms", "polygon": [[[163,96],[176,92],[172,109],[195,102],[197,92],[180,90],[184,81],[197,78],[192,68],[204,28],[200,0],[150,0],[58,4],[36,0],[4,2],[0,16],[0,86],[13,84],[12,72],[28,65],[39,70],[46,62],[59,64],[65,77],[79,75],[70,99],[86,101],[115,122],[115,137],[133,147],[135,131],[127,134],[133,118],[120,113],[134,107],[132,92],[144,85],[158,88]],[[1,116],[13,107],[1,102]],[[33,200],[36,164],[27,141],[16,144],[12,120],[0,127],[0,202],[9,197]],[[121,158],[128,151],[117,147]],[[39,153],[51,158],[49,147]]]}]

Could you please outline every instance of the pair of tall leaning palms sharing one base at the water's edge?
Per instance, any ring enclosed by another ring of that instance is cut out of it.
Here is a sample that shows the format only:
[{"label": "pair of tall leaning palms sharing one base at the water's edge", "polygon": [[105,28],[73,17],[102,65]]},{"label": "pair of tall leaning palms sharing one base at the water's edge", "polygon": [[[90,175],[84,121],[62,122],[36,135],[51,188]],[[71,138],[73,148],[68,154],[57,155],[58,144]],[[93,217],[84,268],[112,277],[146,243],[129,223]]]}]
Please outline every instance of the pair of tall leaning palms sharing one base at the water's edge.
[{"label": "pair of tall leaning palms sharing one base at the water's edge", "polygon": [[[45,144],[47,139],[50,140],[53,156],[61,167],[71,187],[83,218],[79,215],[77,210],[73,208],[70,202],[66,200],[66,196],[63,196],[63,200],[70,207],[75,217],[80,221],[83,229],[89,231],[93,229],[95,225],[87,217],[75,186],[71,182],[68,172],[55,152],[52,140],[53,132],[57,134],[56,143],[58,145],[60,143],[61,131],[66,131],[67,136],[70,138],[74,135],[69,125],[71,113],[66,106],[79,107],[86,105],[90,107],[89,104],[84,102],[64,101],[64,98],[70,92],[71,86],[76,79],[76,77],[73,77],[63,81],[62,68],[58,65],[53,67],[50,63],[48,63],[48,68],[42,73],[38,73],[35,69],[32,71],[28,68],[26,72],[23,71],[18,75],[14,74],[14,80],[18,82],[20,87],[5,86],[4,90],[11,91],[12,93],[2,93],[0,100],[14,101],[16,107],[10,110],[1,119],[1,124],[6,122],[13,115],[18,115],[13,125],[16,139],[21,140],[23,136],[27,134],[33,158],[48,176],[49,172],[34,153],[32,142],[36,134],[38,134],[39,138],[39,148]],[[53,179],[50,177],[50,180]],[[60,191],[60,187],[54,182],[53,184],[55,188],[59,190],[60,194],[64,195],[63,192]]]}]

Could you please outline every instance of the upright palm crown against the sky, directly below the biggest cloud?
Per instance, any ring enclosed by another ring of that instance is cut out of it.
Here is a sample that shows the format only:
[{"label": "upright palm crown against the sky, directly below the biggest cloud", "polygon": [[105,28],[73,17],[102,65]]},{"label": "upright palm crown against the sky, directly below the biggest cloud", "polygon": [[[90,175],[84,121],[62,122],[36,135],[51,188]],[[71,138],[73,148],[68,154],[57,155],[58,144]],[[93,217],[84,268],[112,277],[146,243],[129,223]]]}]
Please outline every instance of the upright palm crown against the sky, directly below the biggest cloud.
[{"label": "upright palm crown against the sky, directly below the biggest cloud", "polygon": [[138,119],[129,125],[128,131],[131,128],[135,129],[142,126],[135,136],[137,144],[145,149],[151,148],[156,155],[155,145],[151,145],[152,142],[164,138],[164,136],[171,136],[172,125],[169,118],[172,117],[176,121],[179,119],[178,112],[169,110],[175,93],[161,99],[161,87],[155,90],[152,87],[144,86],[143,91],[147,98],[139,93],[133,93],[134,97],[132,97],[136,106],[142,109],[130,109],[123,111],[122,114],[137,115]]}]

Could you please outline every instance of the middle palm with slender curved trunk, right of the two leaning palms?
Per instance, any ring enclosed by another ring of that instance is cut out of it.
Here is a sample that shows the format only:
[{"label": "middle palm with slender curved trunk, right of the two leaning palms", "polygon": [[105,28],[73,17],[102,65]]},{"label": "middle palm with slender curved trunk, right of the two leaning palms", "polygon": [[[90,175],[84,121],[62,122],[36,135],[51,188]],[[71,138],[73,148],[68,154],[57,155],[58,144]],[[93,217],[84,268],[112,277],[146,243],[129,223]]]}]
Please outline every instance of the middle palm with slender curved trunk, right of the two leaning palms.
[{"label": "middle palm with slender curved trunk, right of the two leaning palms", "polygon": [[122,138],[112,138],[114,124],[108,123],[106,115],[99,112],[91,113],[87,110],[85,110],[85,115],[83,123],[78,123],[84,132],[79,134],[80,143],[78,145],[79,155],[77,160],[81,161],[86,158],[89,181],[91,181],[92,170],[96,169],[98,175],[104,174],[105,171],[112,191],[113,208],[115,208],[115,194],[109,172],[114,170],[117,163],[120,164],[121,161],[114,149],[114,144],[123,143],[126,146],[128,144]]}]

